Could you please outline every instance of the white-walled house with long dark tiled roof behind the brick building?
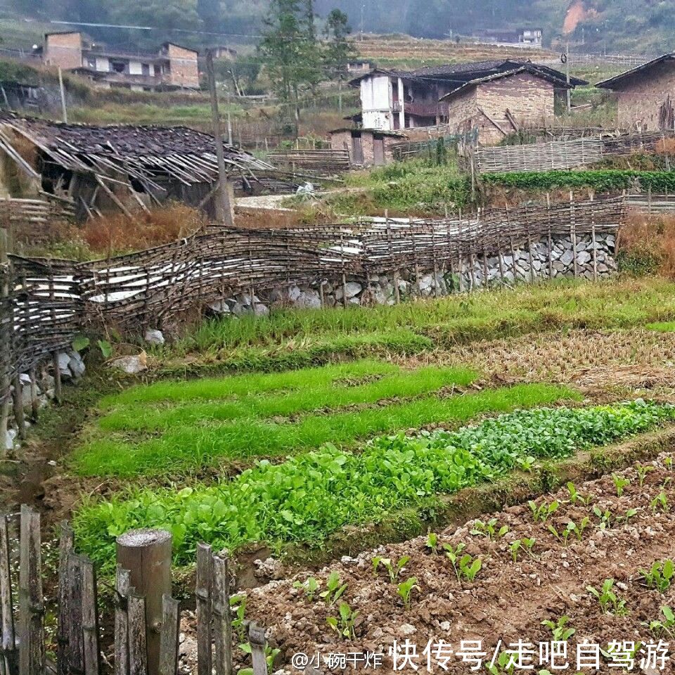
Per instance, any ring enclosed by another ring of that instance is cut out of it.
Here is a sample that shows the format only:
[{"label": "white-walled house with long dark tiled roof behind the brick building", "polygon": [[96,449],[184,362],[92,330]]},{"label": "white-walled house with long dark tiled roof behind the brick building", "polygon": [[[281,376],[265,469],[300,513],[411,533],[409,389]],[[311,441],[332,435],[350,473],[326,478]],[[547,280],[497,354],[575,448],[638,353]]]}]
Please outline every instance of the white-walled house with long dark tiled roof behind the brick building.
[{"label": "white-walled house with long dark tiled roof behind the brick building", "polygon": [[[454,63],[417,70],[383,70],[375,68],[349,84],[361,90],[361,119],[366,129],[396,131],[447,124],[448,105],[440,100],[468,82],[526,68],[555,82],[551,91],[567,88],[562,72],[535,65],[529,60],[490,60]],[[572,78],[572,86],[586,84]]]}]

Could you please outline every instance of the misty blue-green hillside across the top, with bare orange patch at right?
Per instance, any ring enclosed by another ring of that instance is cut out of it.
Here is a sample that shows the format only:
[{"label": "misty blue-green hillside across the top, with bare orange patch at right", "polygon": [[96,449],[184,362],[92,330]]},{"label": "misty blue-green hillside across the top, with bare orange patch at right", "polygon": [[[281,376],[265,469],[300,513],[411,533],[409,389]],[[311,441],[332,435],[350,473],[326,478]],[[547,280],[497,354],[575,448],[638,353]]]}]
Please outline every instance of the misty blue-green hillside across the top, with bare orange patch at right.
[{"label": "misty blue-green hillside across the top, with bare orange patch at right", "polygon": [[[227,41],[253,44],[269,0],[0,0],[5,44],[34,39],[50,20],[150,25],[157,31],[91,29],[97,39],[156,44],[176,38],[188,44]],[[435,39],[470,36],[485,29],[541,28],[545,46],[558,49],[569,37],[577,51],[673,49],[675,0],[315,0],[316,14],[338,7],[354,32],[401,33]],[[15,18],[10,25],[6,19]],[[4,22],[5,20],[5,22]],[[41,23],[39,23],[41,22]],[[180,33],[175,31],[180,29]],[[187,29],[187,32],[186,32]],[[195,31],[191,33],[190,31]],[[199,34],[202,32],[202,34]],[[222,39],[215,37],[222,33]]]}]

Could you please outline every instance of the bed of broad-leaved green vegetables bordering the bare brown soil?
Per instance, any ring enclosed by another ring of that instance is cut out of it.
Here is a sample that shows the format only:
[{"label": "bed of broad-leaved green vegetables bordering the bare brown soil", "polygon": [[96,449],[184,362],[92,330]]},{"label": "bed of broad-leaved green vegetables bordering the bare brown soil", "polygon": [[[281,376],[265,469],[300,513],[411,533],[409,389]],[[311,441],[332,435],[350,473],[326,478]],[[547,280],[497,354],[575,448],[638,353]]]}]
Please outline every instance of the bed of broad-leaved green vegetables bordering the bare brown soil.
[{"label": "bed of broad-leaved green vegetables bordering the bare brown soil", "polygon": [[674,416],[672,406],[639,401],[539,409],[451,433],[382,437],[360,454],[327,446],[277,465],[261,462],[217,484],[131,487],[103,503],[89,501],[75,520],[77,540],[108,569],[115,536],[134,527],[169,529],[179,563],[192,560],[198,541],[230,551],[260,541],[316,546],[344,525],[378,522],[411,504],[430,508],[440,494],[635,435]]}]

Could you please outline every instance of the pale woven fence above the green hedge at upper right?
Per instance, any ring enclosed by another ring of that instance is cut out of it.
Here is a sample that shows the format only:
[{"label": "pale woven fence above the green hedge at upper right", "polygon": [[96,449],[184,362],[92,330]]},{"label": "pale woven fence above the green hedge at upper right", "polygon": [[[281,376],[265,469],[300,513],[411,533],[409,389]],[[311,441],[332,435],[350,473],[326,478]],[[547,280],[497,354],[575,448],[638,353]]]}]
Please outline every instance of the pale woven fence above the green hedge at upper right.
[{"label": "pale woven fence above the green hedge at upper right", "polygon": [[478,148],[475,151],[476,165],[480,173],[572,169],[599,162],[608,155],[651,153],[674,135],[673,131],[655,131],[610,138],[598,136],[524,146]]}]

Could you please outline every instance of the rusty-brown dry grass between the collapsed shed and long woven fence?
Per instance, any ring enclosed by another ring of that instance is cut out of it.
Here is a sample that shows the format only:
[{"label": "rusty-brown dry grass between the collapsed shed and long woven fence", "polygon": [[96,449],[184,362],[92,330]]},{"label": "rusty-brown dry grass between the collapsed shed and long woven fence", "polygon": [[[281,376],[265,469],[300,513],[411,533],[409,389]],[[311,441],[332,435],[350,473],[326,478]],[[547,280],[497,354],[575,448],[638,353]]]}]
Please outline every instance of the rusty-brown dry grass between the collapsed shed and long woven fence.
[{"label": "rusty-brown dry grass between the collapsed shed and long woven fence", "polygon": [[152,248],[189,236],[207,221],[192,207],[174,203],[152,212],[138,212],[133,220],[114,214],[90,220],[81,236],[91,251],[105,254]]}]

